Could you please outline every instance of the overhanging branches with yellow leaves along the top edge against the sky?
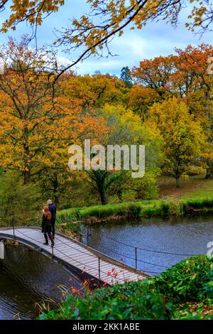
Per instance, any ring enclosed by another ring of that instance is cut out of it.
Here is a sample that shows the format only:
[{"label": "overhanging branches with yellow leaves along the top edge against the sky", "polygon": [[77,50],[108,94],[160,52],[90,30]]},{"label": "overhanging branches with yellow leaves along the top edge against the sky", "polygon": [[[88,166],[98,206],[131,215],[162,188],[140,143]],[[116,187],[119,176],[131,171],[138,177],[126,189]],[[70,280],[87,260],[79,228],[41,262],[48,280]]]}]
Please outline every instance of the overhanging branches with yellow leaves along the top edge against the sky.
[{"label": "overhanging branches with yellow leaves along the top edge against the sky", "polygon": [[[9,6],[11,2],[11,6]],[[111,37],[111,34],[117,28],[121,28],[124,23],[133,23],[133,28],[141,29],[146,26],[148,21],[160,21],[165,20],[172,25],[176,23],[178,14],[182,10],[182,2],[177,1],[177,4],[170,4],[168,0],[162,1],[137,1],[137,0],[87,0],[89,3],[89,10],[87,14],[82,15],[81,18],[75,18],[72,20],[71,28],[67,28],[67,33],[62,37],[62,41],[65,43],[77,43],[77,46],[84,44],[85,46],[92,46],[94,43],[100,43],[105,36]],[[189,0],[190,4],[194,0]],[[9,17],[1,26],[1,32],[6,33],[9,28],[16,30],[18,23],[26,21],[30,26],[43,23],[43,18],[48,14],[57,12],[60,6],[65,4],[65,0],[11,0],[6,1],[5,6],[7,12],[11,12]],[[201,26],[204,21],[204,26],[208,27],[208,23],[211,22],[212,16],[212,4],[210,1],[205,1],[204,6],[202,1],[197,1],[197,6],[192,8],[192,13],[188,16],[192,19],[192,23],[185,23],[187,28],[193,30],[194,26]],[[191,6],[192,7],[192,6]],[[72,8],[72,7],[71,7]],[[94,20],[95,18],[95,20]],[[94,25],[94,21],[97,21],[97,26]],[[207,23],[207,25],[206,25]],[[98,30],[95,33],[93,29]],[[119,31],[121,36],[123,31]],[[59,40],[60,41],[60,40]],[[101,45],[101,43],[100,43]],[[94,49],[92,49],[94,54]]]}]

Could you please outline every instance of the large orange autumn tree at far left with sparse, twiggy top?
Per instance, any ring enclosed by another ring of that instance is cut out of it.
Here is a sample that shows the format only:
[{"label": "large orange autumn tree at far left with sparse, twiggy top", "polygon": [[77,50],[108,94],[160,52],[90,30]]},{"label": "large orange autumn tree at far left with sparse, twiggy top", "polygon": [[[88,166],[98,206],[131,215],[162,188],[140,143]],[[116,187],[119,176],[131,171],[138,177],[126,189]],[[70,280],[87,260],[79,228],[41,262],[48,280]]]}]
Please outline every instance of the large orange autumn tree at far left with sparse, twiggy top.
[{"label": "large orange autumn tree at far left with sparse, twiggy top", "polygon": [[4,60],[0,76],[1,168],[21,173],[25,184],[41,174],[64,171],[69,145],[102,132],[103,122],[92,111],[82,109],[80,97],[67,96],[67,75],[60,78],[53,95],[54,54],[28,48],[27,37],[21,43],[9,39],[0,54]]}]

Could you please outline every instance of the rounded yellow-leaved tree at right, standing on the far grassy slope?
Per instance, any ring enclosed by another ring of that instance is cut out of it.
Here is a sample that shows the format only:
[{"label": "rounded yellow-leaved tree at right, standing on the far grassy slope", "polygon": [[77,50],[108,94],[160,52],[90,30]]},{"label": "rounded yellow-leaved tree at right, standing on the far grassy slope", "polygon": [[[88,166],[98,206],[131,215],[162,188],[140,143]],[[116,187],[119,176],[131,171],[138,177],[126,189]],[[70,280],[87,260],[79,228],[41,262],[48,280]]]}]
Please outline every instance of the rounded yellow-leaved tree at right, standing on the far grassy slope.
[{"label": "rounded yellow-leaved tree at right, standing on the far grassy slope", "polygon": [[191,171],[204,171],[202,156],[208,150],[206,137],[200,122],[195,121],[184,102],[173,97],[154,104],[148,124],[162,137],[163,172],[175,178],[177,188],[180,178],[187,177]]}]

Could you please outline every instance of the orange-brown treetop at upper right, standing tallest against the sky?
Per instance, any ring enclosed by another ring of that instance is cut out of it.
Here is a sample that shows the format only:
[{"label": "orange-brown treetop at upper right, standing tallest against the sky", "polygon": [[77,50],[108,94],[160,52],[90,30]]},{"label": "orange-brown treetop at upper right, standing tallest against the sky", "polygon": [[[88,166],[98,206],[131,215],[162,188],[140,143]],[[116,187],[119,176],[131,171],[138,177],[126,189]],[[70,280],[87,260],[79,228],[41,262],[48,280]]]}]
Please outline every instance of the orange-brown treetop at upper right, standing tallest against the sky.
[{"label": "orange-brown treetop at upper right, standing tallest against the sky", "polygon": [[185,98],[198,90],[209,95],[212,77],[207,72],[207,60],[213,54],[212,45],[187,45],[185,49],[175,48],[175,53],[142,60],[131,70],[136,84],[155,90],[162,99],[169,96]]}]

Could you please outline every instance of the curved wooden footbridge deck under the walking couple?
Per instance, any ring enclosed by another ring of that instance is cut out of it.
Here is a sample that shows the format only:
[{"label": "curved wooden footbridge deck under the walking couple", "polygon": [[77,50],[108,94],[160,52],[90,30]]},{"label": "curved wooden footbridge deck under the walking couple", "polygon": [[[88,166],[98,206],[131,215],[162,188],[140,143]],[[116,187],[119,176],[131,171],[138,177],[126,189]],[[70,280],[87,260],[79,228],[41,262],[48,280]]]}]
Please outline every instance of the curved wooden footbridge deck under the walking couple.
[{"label": "curved wooden footbridge deck under the walking couple", "polygon": [[60,263],[72,273],[88,276],[109,285],[148,277],[147,274],[60,233],[55,233],[53,248],[45,245],[43,233],[37,227],[0,228],[0,239],[13,239],[26,244]]}]

